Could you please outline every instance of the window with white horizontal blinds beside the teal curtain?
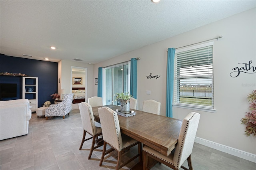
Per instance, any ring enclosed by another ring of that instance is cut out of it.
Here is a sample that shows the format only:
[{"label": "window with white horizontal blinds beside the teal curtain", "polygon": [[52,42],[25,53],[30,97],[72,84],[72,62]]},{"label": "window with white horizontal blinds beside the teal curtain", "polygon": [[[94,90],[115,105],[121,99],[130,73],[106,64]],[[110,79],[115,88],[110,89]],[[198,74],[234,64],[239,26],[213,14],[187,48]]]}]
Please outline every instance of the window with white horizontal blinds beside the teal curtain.
[{"label": "window with white horizontal blinds beside the teal curtain", "polygon": [[177,50],[174,104],[214,109],[213,43]]}]

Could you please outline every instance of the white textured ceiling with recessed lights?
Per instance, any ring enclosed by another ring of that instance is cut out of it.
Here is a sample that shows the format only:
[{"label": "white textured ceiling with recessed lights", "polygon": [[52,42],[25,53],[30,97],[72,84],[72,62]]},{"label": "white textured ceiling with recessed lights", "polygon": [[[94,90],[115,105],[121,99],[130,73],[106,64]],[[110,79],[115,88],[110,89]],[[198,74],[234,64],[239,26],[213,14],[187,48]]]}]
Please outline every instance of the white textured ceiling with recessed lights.
[{"label": "white textured ceiling with recessed lights", "polygon": [[255,0],[1,0],[0,52],[94,64],[255,7]]}]

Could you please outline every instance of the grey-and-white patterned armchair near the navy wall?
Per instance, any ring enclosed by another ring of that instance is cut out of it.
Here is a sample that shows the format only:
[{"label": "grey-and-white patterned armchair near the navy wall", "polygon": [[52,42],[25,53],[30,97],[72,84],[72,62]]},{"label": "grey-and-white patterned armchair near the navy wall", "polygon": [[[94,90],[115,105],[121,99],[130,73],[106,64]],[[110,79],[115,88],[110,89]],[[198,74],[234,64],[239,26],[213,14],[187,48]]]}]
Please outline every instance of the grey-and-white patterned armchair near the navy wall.
[{"label": "grey-and-white patterned armchair near the navy wall", "polygon": [[65,119],[65,115],[69,115],[72,109],[73,96],[74,93],[65,94],[63,96],[62,102],[55,105],[50,105],[50,107],[45,109],[46,120],[51,116],[63,116],[63,119]]}]

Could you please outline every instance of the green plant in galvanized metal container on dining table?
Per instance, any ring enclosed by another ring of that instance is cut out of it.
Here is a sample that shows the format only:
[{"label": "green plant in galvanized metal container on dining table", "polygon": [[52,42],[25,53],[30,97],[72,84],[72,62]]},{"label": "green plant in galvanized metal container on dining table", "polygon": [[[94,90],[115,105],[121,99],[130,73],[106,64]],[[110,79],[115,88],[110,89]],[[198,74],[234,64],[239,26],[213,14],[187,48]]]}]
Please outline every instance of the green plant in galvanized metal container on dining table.
[{"label": "green plant in galvanized metal container on dining table", "polygon": [[116,93],[116,101],[120,103],[121,113],[130,113],[130,98],[132,95],[127,93]]}]

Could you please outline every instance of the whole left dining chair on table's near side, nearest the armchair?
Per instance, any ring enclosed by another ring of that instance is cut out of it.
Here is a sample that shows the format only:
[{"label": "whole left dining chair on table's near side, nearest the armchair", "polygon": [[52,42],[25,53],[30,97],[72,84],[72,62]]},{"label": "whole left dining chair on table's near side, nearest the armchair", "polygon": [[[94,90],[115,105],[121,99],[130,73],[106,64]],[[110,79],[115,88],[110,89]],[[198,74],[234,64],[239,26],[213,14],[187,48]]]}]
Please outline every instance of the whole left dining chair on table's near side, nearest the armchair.
[{"label": "whole left dining chair on table's near side, nearest the armchair", "polygon": [[[90,154],[88,156],[88,159],[90,159],[92,156],[92,151],[103,145],[103,143],[100,143],[95,146],[96,138],[98,138],[98,136],[102,135],[102,130],[100,127],[95,126],[94,117],[93,117],[93,113],[92,113],[92,107],[88,103],[86,103],[86,102],[79,103],[78,107],[79,107],[79,111],[80,111],[80,115],[81,115],[81,119],[82,119],[82,125],[84,128],[84,134],[83,134],[83,138],[82,138],[82,142],[80,144],[79,150],[82,149],[82,146],[85,141],[92,139],[92,146],[90,149]],[[90,134],[92,137],[85,139],[86,132],[88,134]]]}]

